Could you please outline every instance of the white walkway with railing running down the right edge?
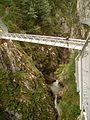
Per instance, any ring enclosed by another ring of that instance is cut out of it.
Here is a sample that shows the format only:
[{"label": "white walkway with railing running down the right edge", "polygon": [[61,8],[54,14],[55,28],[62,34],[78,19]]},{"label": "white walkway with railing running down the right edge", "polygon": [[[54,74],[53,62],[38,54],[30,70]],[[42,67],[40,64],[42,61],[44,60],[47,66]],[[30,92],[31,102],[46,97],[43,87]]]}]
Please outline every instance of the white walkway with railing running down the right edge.
[{"label": "white walkway with railing running down the right edge", "polygon": [[76,57],[75,75],[77,91],[80,95],[80,109],[90,120],[90,37],[86,40],[80,54]]}]

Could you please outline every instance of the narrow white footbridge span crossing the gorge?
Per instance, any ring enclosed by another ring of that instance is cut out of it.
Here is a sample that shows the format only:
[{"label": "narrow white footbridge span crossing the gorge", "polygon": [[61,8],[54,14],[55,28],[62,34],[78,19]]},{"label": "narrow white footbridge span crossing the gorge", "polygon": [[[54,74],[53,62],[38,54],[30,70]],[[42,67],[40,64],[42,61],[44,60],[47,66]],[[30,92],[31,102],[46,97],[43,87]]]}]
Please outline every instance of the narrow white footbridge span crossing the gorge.
[{"label": "narrow white footbridge span crossing the gorge", "polygon": [[52,45],[52,46],[78,49],[78,50],[81,50],[85,43],[85,40],[81,40],[81,39],[69,38],[68,40],[66,40],[66,38],[63,37],[18,34],[18,33],[4,33],[1,35],[1,39],[24,41],[24,42]]}]

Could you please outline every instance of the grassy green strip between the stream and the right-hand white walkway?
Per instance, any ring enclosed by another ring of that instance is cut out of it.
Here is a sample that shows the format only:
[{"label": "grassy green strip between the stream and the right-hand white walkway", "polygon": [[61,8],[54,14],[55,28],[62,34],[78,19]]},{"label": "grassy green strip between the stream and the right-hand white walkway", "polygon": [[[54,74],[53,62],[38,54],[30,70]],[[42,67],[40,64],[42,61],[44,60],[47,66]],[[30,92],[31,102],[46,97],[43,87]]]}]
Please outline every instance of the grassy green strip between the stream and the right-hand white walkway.
[{"label": "grassy green strip between the stream and the right-hand white walkway", "polygon": [[71,54],[68,65],[60,65],[56,71],[57,77],[64,83],[64,94],[60,100],[61,120],[76,120],[80,115],[79,95],[75,83],[75,57],[76,53]]}]

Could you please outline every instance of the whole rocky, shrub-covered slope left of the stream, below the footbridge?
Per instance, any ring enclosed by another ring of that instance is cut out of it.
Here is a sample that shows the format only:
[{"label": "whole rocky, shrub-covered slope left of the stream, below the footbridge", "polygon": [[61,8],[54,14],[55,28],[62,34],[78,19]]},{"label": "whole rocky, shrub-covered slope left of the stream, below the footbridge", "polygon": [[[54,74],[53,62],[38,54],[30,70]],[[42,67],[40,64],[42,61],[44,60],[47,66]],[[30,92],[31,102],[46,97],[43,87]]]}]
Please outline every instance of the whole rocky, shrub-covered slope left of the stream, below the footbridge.
[{"label": "whole rocky, shrub-covered slope left of the stream, below the footbridge", "polygon": [[57,120],[42,74],[13,42],[0,45],[0,120]]}]

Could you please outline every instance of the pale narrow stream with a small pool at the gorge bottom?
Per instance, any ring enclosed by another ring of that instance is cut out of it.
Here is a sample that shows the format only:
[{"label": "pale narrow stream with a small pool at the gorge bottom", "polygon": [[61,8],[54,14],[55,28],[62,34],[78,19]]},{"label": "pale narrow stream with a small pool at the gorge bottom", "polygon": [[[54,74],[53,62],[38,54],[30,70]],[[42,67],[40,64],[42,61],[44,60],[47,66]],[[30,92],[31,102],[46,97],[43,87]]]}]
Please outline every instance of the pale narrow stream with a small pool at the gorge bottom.
[{"label": "pale narrow stream with a small pool at the gorge bottom", "polygon": [[56,80],[55,82],[53,82],[53,83],[51,84],[50,88],[51,88],[53,94],[55,95],[55,99],[54,99],[55,108],[56,108],[56,110],[57,110],[57,112],[58,112],[58,116],[60,116],[60,111],[61,111],[61,109],[60,109],[59,103],[57,102],[57,94],[58,94],[59,91],[61,90],[61,87],[60,87],[60,85],[59,85],[59,81]]}]

